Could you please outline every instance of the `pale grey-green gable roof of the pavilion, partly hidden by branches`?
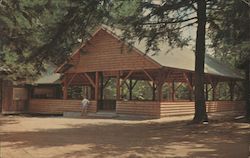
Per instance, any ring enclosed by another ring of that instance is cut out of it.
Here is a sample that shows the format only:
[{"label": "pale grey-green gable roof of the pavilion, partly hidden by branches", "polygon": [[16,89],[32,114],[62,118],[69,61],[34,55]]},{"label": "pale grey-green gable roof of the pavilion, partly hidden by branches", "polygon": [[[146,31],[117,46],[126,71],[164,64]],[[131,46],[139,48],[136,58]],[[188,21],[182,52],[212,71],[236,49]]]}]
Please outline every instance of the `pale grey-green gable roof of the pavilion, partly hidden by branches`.
[{"label": "pale grey-green gable roof of the pavilion, partly hidden by branches", "polygon": [[[104,30],[107,33],[111,34],[113,37],[121,40],[122,31],[116,28],[110,28],[108,26],[102,25],[94,34],[97,34],[100,30]],[[92,37],[93,37],[92,36]],[[82,45],[80,48],[82,48]],[[80,49],[79,48],[79,49]],[[79,49],[77,51],[79,51]],[[133,45],[133,49],[136,49],[138,53],[145,54],[145,57],[151,60],[151,62],[155,62],[163,67],[167,68],[175,68],[175,69],[182,69],[188,71],[194,71],[195,69],[195,54],[194,52],[187,48],[171,48],[165,43],[159,44],[159,52],[155,54],[155,52],[148,52],[146,54],[146,41],[136,41]],[[76,51],[76,52],[77,52]],[[73,55],[76,54],[73,53]],[[154,54],[154,55],[152,55]],[[68,65],[69,66],[69,65]],[[67,67],[67,62],[65,62],[62,66],[60,66],[56,72],[60,72],[60,70],[65,70]],[[219,62],[215,58],[211,57],[210,55],[205,55],[205,68],[204,72],[207,74],[218,75],[223,77],[235,78],[235,79],[243,79],[243,76],[240,75],[235,70],[231,69],[229,66]]]}]

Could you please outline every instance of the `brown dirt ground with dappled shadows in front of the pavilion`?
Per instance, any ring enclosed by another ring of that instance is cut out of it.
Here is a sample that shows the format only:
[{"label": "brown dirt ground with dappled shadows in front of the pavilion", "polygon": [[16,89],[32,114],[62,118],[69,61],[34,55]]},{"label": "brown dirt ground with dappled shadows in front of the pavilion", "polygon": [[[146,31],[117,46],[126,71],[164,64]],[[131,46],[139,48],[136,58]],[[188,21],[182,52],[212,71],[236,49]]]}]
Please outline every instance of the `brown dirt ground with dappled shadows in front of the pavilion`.
[{"label": "brown dirt ground with dappled shadows in front of the pavilion", "polygon": [[250,156],[250,124],[232,119],[188,125],[159,120],[0,116],[1,158]]}]

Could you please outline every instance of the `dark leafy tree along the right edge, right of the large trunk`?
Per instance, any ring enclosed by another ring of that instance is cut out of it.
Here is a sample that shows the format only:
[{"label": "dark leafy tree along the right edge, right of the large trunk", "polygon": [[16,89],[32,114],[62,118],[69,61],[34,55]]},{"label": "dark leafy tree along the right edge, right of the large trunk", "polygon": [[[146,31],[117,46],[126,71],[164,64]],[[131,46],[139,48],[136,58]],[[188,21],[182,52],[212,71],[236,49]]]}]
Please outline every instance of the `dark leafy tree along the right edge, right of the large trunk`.
[{"label": "dark leafy tree along the right edge, right of the large trunk", "polygon": [[[209,37],[215,56],[237,66],[241,63],[245,69],[245,99],[247,117],[250,120],[250,6],[246,1],[220,0],[224,7],[218,7],[209,12],[213,23],[209,27]],[[220,5],[222,6],[222,5]]]}]

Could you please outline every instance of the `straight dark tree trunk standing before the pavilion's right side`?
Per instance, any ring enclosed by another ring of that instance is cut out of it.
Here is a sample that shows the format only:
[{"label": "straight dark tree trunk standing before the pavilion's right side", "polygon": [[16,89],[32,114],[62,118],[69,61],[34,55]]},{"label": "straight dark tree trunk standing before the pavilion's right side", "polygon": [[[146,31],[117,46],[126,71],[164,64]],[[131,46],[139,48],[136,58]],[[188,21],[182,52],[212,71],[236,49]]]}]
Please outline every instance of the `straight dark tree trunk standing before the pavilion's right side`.
[{"label": "straight dark tree trunk standing before the pavilion's right side", "polygon": [[204,96],[204,61],[206,34],[206,0],[197,1],[198,26],[195,52],[195,114],[193,123],[207,121]]}]

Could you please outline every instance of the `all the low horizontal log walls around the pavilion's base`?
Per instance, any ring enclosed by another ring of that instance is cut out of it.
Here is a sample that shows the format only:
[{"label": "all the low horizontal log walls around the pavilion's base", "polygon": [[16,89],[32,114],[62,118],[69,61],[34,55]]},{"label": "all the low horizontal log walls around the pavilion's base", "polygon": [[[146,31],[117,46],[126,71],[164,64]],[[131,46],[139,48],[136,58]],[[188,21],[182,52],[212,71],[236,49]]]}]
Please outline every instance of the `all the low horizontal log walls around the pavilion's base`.
[{"label": "all the low horizontal log walls around the pavilion's base", "polygon": [[[209,101],[206,104],[208,113],[244,110],[244,101]],[[80,100],[31,99],[29,112],[44,114],[79,112],[80,105]],[[96,101],[91,101],[88,110],[97,112]],[[193,115],[194,102],[117,101],[116,113],[152,118]]]}]

